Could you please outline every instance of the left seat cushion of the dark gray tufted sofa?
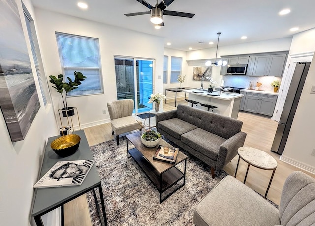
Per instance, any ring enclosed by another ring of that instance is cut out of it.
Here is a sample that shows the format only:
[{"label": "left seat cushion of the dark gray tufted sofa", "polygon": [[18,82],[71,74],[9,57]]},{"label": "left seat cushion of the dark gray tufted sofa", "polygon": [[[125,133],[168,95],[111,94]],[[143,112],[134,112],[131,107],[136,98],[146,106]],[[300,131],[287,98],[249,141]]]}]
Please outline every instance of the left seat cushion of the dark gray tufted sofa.
[{"label": "left seat cushion of the dark gray tufted sofa", "polygon": [[183,133],[187,133],[191,130],[194,130],[197,128],[197,126],[192,125],[186,121],[183,121],[178,118],[172,118],[169,120],[164,120],[158,122],[158,128],[161,128],[171,136],[175,137],[176,139],[180,140],[181,135]]}]

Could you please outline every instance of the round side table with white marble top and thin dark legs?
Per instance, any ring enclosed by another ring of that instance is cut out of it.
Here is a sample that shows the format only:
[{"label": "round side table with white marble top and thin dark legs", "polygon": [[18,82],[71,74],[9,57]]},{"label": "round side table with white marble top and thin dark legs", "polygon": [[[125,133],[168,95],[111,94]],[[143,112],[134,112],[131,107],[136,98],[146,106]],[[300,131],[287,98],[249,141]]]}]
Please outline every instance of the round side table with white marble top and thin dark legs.
[{"label": "round side table with white marble top and thin dark legs", "polygon": [[248,163],[245,178],[244,178],[244,184],[246,182],[246,177],[247,177],[247,173],[250,168],[250,165],[257,167],[259,169],[273,170],[270,181],[269,181],[269,185],[265,194],[265,197],[267,197],[268,190],[271,185],[271,181],[274,177],[276,168],[278,166],[276,159],[274,159],[271,155],[267,154],[266,152],[261,151],[259,149],[252,148],[252,147],[240,147],[238,148],[237,153],[239,155],[239,158],[238,158],[234,177],[236,177],[237,168],[240,163],[240,158],[242,158],[245,162]]}]

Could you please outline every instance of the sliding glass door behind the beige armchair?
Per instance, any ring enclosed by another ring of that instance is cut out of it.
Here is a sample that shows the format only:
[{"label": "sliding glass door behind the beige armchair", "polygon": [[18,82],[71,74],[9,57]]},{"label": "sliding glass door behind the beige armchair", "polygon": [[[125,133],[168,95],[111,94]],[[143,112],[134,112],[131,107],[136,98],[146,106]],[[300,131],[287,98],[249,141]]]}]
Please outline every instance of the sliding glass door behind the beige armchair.
[{"label": "sliding glass door behind the beige armchair", "polygon": [[153,65],[150,59],[115,57],[117,99],[133,99],[136,114],[152,109]]}]

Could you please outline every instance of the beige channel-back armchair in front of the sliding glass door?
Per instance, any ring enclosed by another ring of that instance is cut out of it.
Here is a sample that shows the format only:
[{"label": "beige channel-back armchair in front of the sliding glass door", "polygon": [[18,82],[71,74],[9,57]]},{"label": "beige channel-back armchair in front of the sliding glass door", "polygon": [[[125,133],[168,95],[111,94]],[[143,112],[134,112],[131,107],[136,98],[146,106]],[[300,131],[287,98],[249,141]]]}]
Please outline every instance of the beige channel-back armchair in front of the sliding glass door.
[{"label": "beige channel-back armchair in front of the sliding glass door", "polygon": [[116,134],[117,145],[119,145],[119,135],[141,129],[141,125],[132,116],[133,107],[134,102],[132,99],[110,101],[107,103],[110,125],[113,129],[112,134]]}]

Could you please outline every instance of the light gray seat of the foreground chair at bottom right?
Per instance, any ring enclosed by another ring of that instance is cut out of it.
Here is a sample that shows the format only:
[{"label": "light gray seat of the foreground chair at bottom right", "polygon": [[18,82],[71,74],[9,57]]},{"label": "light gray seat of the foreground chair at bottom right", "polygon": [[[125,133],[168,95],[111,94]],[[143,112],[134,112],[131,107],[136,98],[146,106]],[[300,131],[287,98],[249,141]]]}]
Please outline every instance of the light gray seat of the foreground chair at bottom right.
[{"label": "light gray seat of the foreground chair at bottom right", "polygon": [[193,221],[196,226],[280,225],[278,209],[232,176],[197,204]]}]

